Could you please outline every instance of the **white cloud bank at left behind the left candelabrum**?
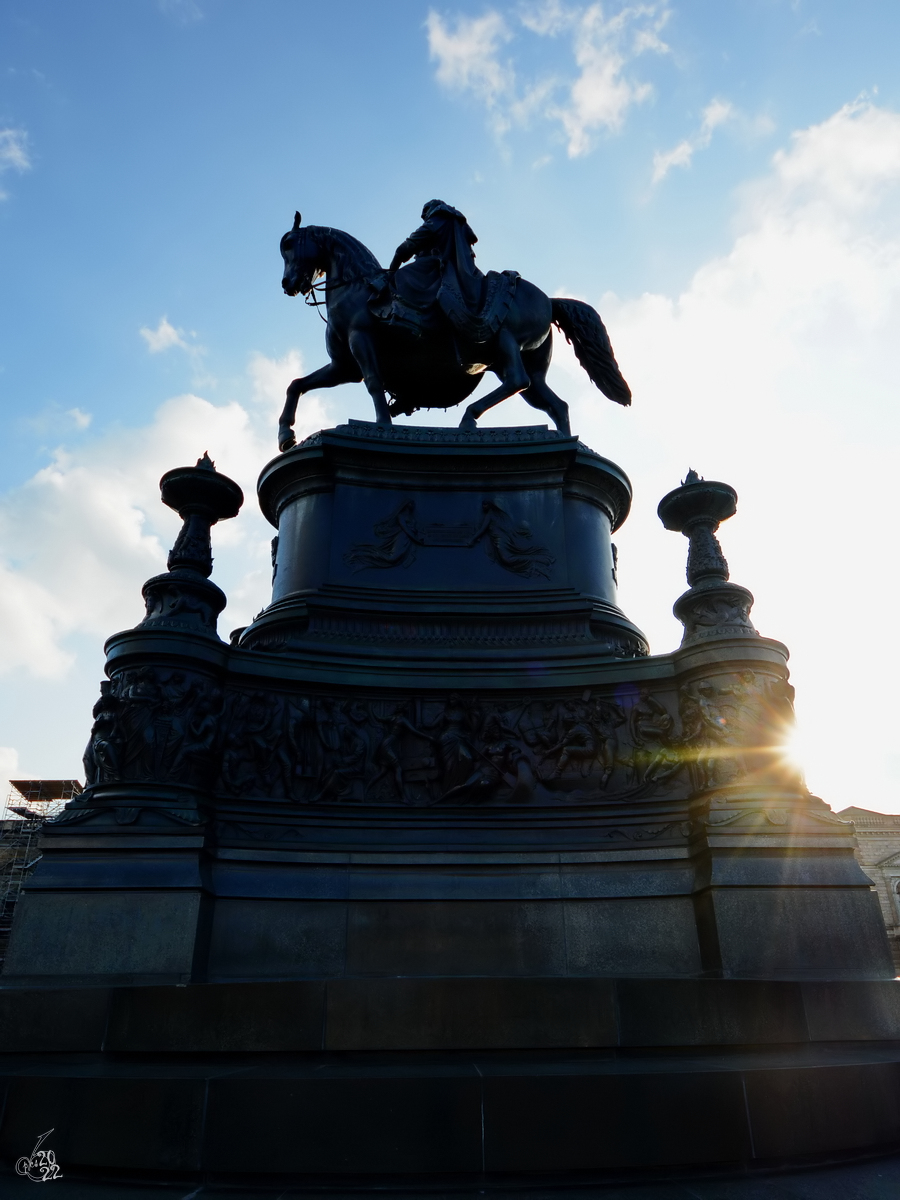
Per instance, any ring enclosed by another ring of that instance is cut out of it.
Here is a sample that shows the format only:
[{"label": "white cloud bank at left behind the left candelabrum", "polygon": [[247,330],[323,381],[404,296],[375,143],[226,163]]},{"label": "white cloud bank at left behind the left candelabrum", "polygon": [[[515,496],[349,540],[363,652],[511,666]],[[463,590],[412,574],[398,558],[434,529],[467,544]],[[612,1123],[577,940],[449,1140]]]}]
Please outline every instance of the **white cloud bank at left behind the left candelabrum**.
[{"label": "white cloud bank at left behind the left candelabrum", "polygon": [[[227,636],[252,618],[268,601],[272,536],[256,504],[256,479],[276,452],[277,410],[300,368],[296,352],[254,355],[247,404],[176,396],[144,428],[60,448],[0,497],[0,673],[60,679],[74,661],[74,635],[102,643],[140,620],[140,587],[164,570],[179,528],[160,502],[160,476],[204,450],[245,492],[240,516],[214,533],[214,577],[229,595],[220,629]],[[324,424],[320,401],[304,397],[298,439]]]}]

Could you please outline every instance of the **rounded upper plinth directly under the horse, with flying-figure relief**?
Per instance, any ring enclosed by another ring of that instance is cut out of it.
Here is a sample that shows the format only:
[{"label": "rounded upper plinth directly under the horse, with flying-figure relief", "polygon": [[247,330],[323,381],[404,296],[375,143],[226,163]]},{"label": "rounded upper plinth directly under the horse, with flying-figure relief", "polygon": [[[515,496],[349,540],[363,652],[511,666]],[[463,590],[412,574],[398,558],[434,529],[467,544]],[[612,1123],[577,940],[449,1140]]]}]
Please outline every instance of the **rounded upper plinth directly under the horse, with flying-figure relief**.
[{"label": "rounded upper plinth directly under the horse, with flying-figure relief", "polygon": [[245,649],[418,688],[515,688],[536,666],[577,683],[647,654],[616,604],[631,485],[577,438],[352,421],[269,463],[259,498],[272,604]]}]

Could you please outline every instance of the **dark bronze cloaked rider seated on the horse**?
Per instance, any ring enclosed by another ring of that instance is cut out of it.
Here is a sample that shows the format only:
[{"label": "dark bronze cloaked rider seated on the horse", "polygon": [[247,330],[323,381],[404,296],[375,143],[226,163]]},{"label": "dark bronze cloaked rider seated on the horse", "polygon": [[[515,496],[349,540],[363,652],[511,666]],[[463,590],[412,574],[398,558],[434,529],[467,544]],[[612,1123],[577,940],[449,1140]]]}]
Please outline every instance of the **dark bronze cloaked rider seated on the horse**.
[{"label": "dark bronze cloaked rider seated on the horse", "polygon": [[476,317],[485,278],[475,266],[472,247],[476,241],[458,209],[443,200],[428,200],[422,224],[397,246],[391,259],[390,270],[396,271],[415,256],[396,280],[403,298],[422,310],[437,301],[451,320],[460,308]]}]

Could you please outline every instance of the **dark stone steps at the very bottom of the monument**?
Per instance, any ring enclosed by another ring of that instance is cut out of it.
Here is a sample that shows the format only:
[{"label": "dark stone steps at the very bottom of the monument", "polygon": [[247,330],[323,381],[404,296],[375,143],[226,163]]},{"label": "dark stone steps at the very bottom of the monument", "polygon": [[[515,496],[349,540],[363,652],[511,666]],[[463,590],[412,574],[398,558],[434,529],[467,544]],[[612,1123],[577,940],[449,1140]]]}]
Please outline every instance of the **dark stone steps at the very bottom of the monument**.
[{"label": "dark stone steps at the very bottom of the monument", "polygon": [[341,979],[0,990],[7,1165],[578,1186],[900,1145],[900,984]]}]

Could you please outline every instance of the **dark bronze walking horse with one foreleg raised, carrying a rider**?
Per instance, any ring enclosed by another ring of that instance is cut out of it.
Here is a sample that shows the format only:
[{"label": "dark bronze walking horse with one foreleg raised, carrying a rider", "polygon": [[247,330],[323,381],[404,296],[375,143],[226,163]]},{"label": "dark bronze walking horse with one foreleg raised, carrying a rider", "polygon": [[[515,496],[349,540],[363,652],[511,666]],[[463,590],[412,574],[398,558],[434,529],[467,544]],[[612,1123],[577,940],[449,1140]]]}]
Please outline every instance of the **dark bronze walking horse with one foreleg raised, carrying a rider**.
[{"label": "dark bronze walking horse with one foreleg raised, carrying a rider", "polygon": [[[444,210],[464,222],[455,209],[444,205]],[[474,234],[468,233],[474,241]],[[422,262],[420,257],[407,268],[385,271],[362,242],[340,229],[304,226],[299,212],[281,239],[281,253],[287,295],[302,294],[307,302],[320,305],[316,293],[324,289],[325,347],[331,359],[288,386],[278,421],[281,450],[295,444],[296,404],[305,392],[362,382],[374,403],[376,422],[386,426],[392,415],[461,403],[486,371],[497,376],[499,386],[468,406],[460,428],[475,430],[478,418],[488,408],[521,395],[568,434],[569,406],[546,382],[551,325],[571,342],[582,367],[605,396],[618,404],[631,403],[631,391],[594,308],[581,300],[551,299],[515,271],[488,271],[486,276],[475,271],[480,308],[451,320],[437,302],[416,306],[415,289],[404,283],[414,268],[425,266],[437,272],[439,286],[439,258]],[[412,253],[413,239],[408,239],[391,268]],[[474,264],[474,256],[470,258]],[[317,282],[322,276],[324,284]]]}]

